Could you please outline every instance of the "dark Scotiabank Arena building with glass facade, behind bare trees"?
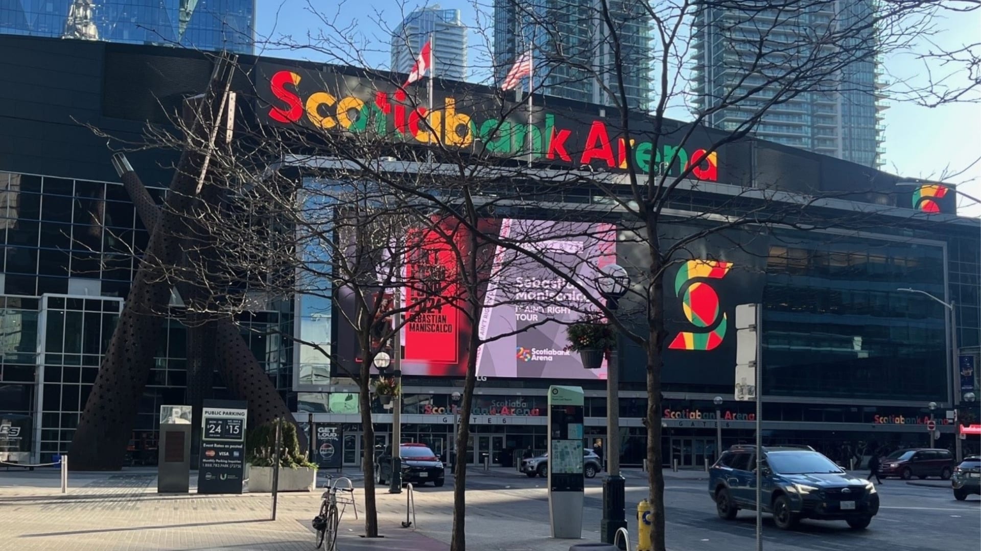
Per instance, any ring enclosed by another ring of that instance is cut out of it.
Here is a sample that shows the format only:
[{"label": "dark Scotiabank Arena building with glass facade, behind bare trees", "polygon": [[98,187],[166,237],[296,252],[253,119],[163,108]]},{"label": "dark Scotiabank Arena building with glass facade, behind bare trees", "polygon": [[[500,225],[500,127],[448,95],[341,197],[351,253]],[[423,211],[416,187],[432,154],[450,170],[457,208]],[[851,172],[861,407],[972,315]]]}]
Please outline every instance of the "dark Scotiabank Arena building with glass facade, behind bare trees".
[{"label": "dark Scotiabank Arena building with glass facade, behind bare trees", "polygon": [[[0,60],[0,423],[7,427],[0,433],[0,460],[9,457],[4,454],[26,453],[31,461],[44,462],[66,452],[72,441],[138,267],[132,251],[138,254],[148,242],[111,164],[106,138],[84,125],[137,141],[148,123],[167,123],[164,109],[204,89],[213,61],[172,48],[9,35],[0,36]],[[369,102],[357,97],[364,75],[353,68],[269,58],[240,58],[239,63],[249,69],[233,83],[242,125],[349,129],[357,122],[332,110],[353,97],[345,105],[361,102],[359,108],[380,111],[388,125],[422,141],[413,113],[387,104],[395,101],[393,95],[372,92]],[[380,89],[370,82],[363,87]],[[470,138],[479,137],[493,117],[482,115],[479,105],[450,100],[462,89],[471,98],[499,97],[494,96],[499,92],[455,82],[437,87],[444,117],[464,117],[474,133]],[[810,229],[774,226],[749,240],[738,234],[742,229],[733,228],[698,243],[706,258],[748,267],[708,281],[718,308],[707,326],[687,321],[682,299],[673,294],[677,280],[698,275],[679,276],[685,269],[681,263],[666,276],[665,293],[671,293],[664,299],[666,329],[672,333],[662,377],[663,443],[671,450],[666,462],[700,467],[711,461],[718,453],[717,425],[724,446],[751,441],[754,406],[734,399],[732,320],[736,305],[743,303],[763,305],[764,441],[805,443],[845,461],[847,450],[860,454],[883,446],[926,445],[933,415],[937,445],[954,447],[949,413],[978,388],[981,227],[976,219],[956,215],[953,186],[908,180],[755,139],[706,156],[698,144],[712,141],[709,129],[693,133],[684,146],[662,139],[655,150],[639,140],[633,160],[625,160],[607,108],[539,96],[534,104],[533,125],[525,119],[515,129],[531,128],[521,131],[531,131],[531,141],[545,152],[537,162],[616,174],[625,162],[651,171],[671,159],[676,162],[669,170],[700,160],[689,185],[680,187],[672,216],[736,204],[737,196],[748,204],[764,196],[788,203],[801,196],[828,196],[808,210]],[[634,127],[643,134],[644,125],[638,119]],[[511,145],[496,147],[507,152]],[[173,152],[129,155],[158,202],[172,176],[166,168],[175,159]],[[281,161],[288,165],[288,158]],[[295,172],[307,177],[301,166]],[[786,193],[766,193],[773,188]],[[567,204],[580,210],[592,205],[595,224],[615,222],[616,209],[595,200],[594,193],[570,184],[549,207],[553,210],[540,208],[530,220],[545,227],[553,216],[549,212]],[[725,215],[712,214],[719,220]],[[835,223],[856,218],[862,224]],[[610,226],[616,231],[615,224]],[[673,231],[684,231],[684,226]],[[606,254],[624,264],[639,253],[624,245]],[[955,305],[955,324],[940,302],[901,288]],[[276,333],[291,331],[330,348],[340,362],[353,361],[351,328],[338,314],[341,303],[295,296],[258,305],[239,325],[296,420],[335,426],[343,464],[353,466],[365,451],[356,387],[340,366]],[[180,312],[180,303],[174,308]],[[512,314],[520,321],[518,313],[501,315]],[[557,309],[536,315],[562,321],[567,314]],[[439,324],[439,345],[412,342],[434,338],[422,334],[434,332],[432,327],[406,331],[401,433],[403,440],[426,442],[443,453],[457,404],[454,392],[462,388],[467,360],[457,344],[473,327],[460,319]],[[587,444],[603,442],[606,368],[586,370],[577,356],[565,353],[568,343],[560,327],[545,324],[482,352],[469,462],[488,453],[492,464],[507,467],[528,446],[543,450],[545,392],[558,381],[585,389]],[[162,319],[160,330],[165,337],[129,435],[127,458],[136,464],[156,461],[160,406],[188,403],[186,327],[175,316]],[[624,343],[610,361],[618,363],[621,374],[622,462],[640,465],[645,454],[644,354]],[[220,379],[212,396],[236,398]],[[716,397],[722,399],[719,406]],[[936,403],[932,412],[931,402]],[[380,447],[388,442],[391,410],[378,402],[373,408]],[[981,451],[977,437],[969,438],[965,453]]]}]

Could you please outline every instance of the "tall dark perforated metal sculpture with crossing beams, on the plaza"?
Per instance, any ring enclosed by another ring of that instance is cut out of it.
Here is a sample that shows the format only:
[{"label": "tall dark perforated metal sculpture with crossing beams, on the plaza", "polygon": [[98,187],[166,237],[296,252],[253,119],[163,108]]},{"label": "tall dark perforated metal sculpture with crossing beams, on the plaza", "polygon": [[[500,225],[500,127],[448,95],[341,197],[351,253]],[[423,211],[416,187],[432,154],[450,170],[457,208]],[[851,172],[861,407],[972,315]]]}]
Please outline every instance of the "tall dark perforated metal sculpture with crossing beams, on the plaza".
[{"label": "tall dark perforated metal sculpture with crossing beams, on the plaza", "polygon": [[[201,145],[182,152],[162,212],[126,158],[113,158],[140,219],[150,231],[150,241],[144,251],[147,260],[140,263],[133,279],[126,307],[79,418],[69,452],[73,470],[117,470],[123,465],[139,399],[159,342],[161,313],[168,307],[173,288],[164,267],[179,266],[183,258],[181,235],[188,229],[182,222],[186,220],[183,215],[201,200],[211,154],[220,147],[218,136],[223,132],[218,129],[223,124],[223,114],[232,109],[232,66],[233,59],[218,60],[206,92],[192,101],[187,141]],[[224,118],[224,123],[230,121],[231,118]],[[188,297],[197,293],[194,285],[188,283],[181,283],[179,293],[181,290]],[[291,419],[275,385],[230,321],[205,322],[189,329],[188,352],[193,354],[194,368],[187,383],[188,397],[198,402],[195,418],[199,419],[200,400],[210,391],[210,366],[217,358],[219,373],[229,389],[248,401],[251,424],[277,417]],[[206,349],[214,355],[206,356]],[[195,425],[199,425],[197,420]]]}]

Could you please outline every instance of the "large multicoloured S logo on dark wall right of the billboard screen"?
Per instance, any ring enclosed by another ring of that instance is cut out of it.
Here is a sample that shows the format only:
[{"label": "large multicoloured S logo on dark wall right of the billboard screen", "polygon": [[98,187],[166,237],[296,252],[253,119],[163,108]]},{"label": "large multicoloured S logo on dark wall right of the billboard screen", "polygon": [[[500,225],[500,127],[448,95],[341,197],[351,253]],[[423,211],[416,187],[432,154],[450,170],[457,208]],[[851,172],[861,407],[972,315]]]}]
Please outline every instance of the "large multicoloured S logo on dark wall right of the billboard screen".
[{"label": "large multicoloured S logo on dark wall right of the billboard screen", "polygon": [[[683,331],[674,337],[668,348],[673,350],[714,350],[722,344],[726,336],[726,313],[720,312],[719,295],[715,294],[708,283],[696,281],[688,287],[685,284],[692,279],[709,278],[721,279],[733,267],[731,262],[714,260],[690,260],[682,265],[675,276],[675,295],[681,298],[685,317],[693,326],[699,328],[712,326],[714,329],[705,332]],[[684,288],[684,292],[682,292]],[[720,319],[721,314],[721,319]]]}]

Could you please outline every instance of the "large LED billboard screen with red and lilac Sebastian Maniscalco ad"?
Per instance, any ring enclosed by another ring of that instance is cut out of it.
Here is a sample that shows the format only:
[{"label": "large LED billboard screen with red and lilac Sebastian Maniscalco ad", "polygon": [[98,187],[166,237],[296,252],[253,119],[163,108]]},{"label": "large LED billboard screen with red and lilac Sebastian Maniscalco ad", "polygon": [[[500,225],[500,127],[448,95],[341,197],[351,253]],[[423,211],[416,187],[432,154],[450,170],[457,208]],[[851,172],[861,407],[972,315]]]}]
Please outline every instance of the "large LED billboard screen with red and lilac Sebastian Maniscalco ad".
[{"label": "large LED billboard screen with red and lilac Sebastian Maniscalco ad", "polygon": [[[578,353],[565,350],[565,327],[594,311],[591,297],[599,296],[598,270],[616,261],[615,227],[516,219],[482,221],[481,225],[482,232],[503,243],[520,244],[545,262],[532,260],[513,247],[489,245],[482,251],[488,257],[479,275],[485,308],[476,330],[488,342],[477,352],[477,375],[605,378],[605,361],[600,369],[587,370]],[[446,232],[421,229],[407,236],[418,246],[409,248],[405,279],[434,283],[429,289],[419,284],[403,289],[402,306],[409,321],[401,331],[402,375],[466,375],[467,344],[475,327],[445,297],[458,296],[459,288],[452,283],[459,258],[456,251],[465,250],[468,239],[461,228],[454,228],[452,234],[455,250],[445,244]],[[579,288],[566,284],[546,266],[575,275]],[[343,314],[336,336],[342,369],[336,370],[336,376],[357,370],[360,364],[357,339],[347,323],[356,319],[354,292],[340,288],[336,293]]]}]

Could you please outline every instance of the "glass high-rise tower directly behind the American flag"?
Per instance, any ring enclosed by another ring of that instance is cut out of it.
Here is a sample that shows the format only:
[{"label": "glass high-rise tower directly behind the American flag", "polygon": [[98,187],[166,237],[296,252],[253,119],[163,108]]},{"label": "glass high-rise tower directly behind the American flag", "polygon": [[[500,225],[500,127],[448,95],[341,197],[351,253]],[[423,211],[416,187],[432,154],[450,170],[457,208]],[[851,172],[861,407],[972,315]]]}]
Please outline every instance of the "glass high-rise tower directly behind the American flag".
[{"label": "glass high-rise tower directly behind the American flag", "polygon": [[[629,0],[609,2],[617,25],[628,107],[646,111],[650,93],[650,17]],[[534,47],[532,46],[534,44]],[[519,7],[495,0],[494,72],[501,82],[514,60],[529,49],[535,57],[535,88],[543,94],[602,105],[616,102],[612,40],[592,0],[533,0]],[[591,68],[589,70],[583,68]]]}]

